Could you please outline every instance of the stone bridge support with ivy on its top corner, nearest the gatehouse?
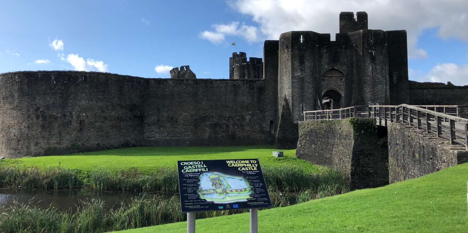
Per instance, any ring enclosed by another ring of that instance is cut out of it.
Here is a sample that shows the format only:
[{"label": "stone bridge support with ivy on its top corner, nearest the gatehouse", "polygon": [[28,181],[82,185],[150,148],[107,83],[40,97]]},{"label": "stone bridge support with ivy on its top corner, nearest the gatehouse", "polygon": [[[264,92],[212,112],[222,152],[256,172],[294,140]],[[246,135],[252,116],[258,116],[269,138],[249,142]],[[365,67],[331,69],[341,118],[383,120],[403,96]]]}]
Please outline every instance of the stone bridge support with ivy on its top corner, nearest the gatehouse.
[{"label": "stone bridge support with ivy on its top corner, nearest the gatehouse", "polygon": [[351,190],[388,185],[387,137],[370,118],[299,122],[296,156],[347,172]]}]

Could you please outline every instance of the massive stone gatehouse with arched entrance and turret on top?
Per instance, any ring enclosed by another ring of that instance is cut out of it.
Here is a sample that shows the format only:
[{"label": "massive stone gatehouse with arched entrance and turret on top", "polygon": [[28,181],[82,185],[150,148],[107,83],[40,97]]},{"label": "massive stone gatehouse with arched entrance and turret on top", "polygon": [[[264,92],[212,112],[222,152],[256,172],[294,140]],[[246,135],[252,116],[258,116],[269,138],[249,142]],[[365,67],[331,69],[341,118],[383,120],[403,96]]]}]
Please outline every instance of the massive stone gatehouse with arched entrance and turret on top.
[{"label": "massive stone gatehouse with arched entrance and turret on top", "polygon": [[286,96],[295,123],[307,110],[409,103],[406,31],[367,29],[366,12],[342,12],[339,25],[335,41],[313,31],[280,35],[278,100]]}]

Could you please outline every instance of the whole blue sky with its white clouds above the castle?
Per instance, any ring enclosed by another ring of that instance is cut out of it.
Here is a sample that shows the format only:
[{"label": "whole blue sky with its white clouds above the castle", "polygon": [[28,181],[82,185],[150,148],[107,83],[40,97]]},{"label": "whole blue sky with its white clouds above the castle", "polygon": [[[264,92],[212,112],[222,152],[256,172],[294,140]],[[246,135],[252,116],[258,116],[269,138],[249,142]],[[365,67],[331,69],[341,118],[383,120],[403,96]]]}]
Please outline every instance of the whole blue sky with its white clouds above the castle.
[{"label": "whole blue sky with its white clouds above the castle", "polygon": [[[228,78],[234,41],[238,51],[262,57],[265,39],[291,30],[334,34],[340,11],[366,11],[371,29],[408,31],[410,79],[468,85],[467,1],[435,1],[432,8],[422,0],[346,2],[0,0],[0,73],[100,70],[168,78],[164,68],[190,65],[198,78]],[[324,10],[332,6],[343,9]],[[411,7],[422,13],[405,11]]]}]

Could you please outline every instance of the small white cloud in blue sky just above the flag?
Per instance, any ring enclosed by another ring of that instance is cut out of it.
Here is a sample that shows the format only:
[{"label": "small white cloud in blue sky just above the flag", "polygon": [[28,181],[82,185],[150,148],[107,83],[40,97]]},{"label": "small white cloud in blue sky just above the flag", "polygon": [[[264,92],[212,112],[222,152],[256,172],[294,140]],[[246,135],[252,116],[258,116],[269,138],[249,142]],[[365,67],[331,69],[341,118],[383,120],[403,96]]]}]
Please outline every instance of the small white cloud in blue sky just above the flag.
[{"label": "small white cloud in blue sky just above the flag", "polygon": [[200,37],[214,44],[223,42],[226,35],[241,36],[248,42],[259,41],[258,30],[254,26],[231,22],[229,24],[213,24],[212,27],[214,31],[204,31],[200,34]]}]

